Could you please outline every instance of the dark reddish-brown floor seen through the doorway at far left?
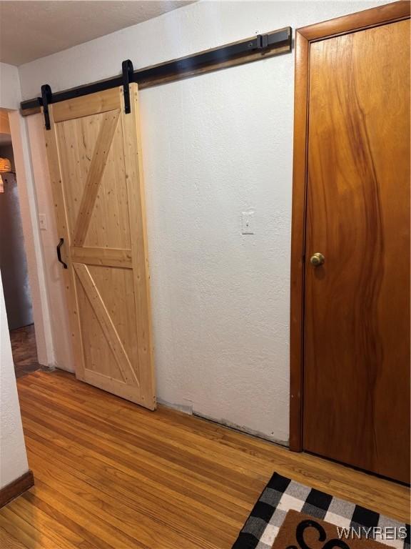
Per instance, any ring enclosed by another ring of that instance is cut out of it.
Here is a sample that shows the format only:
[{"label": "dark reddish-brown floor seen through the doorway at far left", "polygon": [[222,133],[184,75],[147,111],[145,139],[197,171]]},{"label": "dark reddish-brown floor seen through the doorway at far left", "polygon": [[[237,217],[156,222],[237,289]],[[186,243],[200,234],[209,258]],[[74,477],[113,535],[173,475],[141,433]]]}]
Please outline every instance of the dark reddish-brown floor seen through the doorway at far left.
[{"label": "dark reddish-brown floor seen through the doorway at far left", "polygon": [[41,370],[41,365],[37,360],[34,324],[10,330],[10,340],[16,377]]}]

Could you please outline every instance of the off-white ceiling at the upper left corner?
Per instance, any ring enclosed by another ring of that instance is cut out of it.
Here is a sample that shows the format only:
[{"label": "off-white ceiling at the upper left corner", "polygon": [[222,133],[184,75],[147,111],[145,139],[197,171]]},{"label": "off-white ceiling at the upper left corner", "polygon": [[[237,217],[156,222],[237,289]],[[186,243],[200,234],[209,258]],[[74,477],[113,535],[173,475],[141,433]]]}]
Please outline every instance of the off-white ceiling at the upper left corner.
[{"label": "off-white ceiling at the upper left corner", "polygon": [[0,61],[28,63],[195,0],[0,0]]}]

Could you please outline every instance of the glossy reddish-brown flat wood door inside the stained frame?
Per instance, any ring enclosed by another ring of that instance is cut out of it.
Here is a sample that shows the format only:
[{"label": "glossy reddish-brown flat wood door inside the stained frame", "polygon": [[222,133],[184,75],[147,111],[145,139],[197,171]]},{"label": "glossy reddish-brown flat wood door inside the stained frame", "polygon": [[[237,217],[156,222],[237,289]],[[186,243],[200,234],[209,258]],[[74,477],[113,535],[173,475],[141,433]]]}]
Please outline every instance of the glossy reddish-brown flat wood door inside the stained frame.
[{"label": "glossy reddish-brown flat wood door inside the stained frame", "polygon": [[405,20],[310,44],[303,385],[305,450],[404,482],[409,36]]}]

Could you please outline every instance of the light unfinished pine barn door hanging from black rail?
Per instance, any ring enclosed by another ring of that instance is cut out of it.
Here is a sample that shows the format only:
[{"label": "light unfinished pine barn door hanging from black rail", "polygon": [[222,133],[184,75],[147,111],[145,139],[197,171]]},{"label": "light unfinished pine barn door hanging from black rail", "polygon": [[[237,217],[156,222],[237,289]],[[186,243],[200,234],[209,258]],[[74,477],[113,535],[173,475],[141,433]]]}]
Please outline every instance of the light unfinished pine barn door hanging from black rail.
[{"label": "light unfinished pine barn door hanging from black rail", "polygon": [[138,89],[52,104],[44,130],[76,377],[156,407]]}]

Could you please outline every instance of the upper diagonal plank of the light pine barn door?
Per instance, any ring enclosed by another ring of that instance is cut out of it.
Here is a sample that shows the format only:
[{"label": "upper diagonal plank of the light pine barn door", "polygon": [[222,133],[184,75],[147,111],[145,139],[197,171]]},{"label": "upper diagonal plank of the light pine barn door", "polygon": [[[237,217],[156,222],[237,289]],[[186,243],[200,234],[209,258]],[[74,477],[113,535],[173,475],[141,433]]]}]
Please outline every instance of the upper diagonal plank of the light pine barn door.
[{"label": "upper diagonal plank of the light pine barn door", "polygon": [[120,112],[118,109],[107,112],[104,115],[101,124],[93,157],[91,157],[86,186],[84,187],[76,227],[74,229],[73,243],[78,247],[83,246],[84,239],[86,238],[88,225],[91,221],[91,212],[93,212],[94,202],[96,202],[98,188],[100,187],[101,177],[104,168],[106,167],[107,157],[110,152],[111,143],[113,142],[119,114]]}]

